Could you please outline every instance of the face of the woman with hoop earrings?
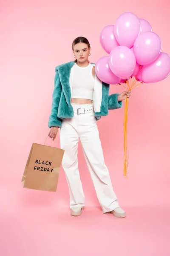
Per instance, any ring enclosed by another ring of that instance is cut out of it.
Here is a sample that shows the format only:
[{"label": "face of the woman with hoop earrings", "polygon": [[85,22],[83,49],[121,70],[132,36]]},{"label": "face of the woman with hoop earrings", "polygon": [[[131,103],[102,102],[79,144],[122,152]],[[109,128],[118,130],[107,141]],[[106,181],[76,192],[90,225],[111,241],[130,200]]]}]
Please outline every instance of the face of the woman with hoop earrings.
[{"label": "face of the woman with hoop earrings", "polygon": [[74,55],[76,56],[78,61],[85,62],[88,60],[90,49],[88,49],[87,44],[78,43],[73,47],[73,49]]}]

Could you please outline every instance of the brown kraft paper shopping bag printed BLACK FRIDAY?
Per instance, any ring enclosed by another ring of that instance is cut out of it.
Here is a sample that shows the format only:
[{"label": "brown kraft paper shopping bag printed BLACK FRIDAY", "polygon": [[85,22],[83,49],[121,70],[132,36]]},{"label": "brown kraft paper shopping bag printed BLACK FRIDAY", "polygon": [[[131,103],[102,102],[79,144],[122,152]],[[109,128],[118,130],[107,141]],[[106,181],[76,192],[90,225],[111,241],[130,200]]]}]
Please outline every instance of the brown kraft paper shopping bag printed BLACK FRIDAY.
[{"label": "brown kraft paper shopping bag printed BLACK FRIDAY", "polygon": [[22,184],[27,189],[56,192],[64,150],[33,143]]}]

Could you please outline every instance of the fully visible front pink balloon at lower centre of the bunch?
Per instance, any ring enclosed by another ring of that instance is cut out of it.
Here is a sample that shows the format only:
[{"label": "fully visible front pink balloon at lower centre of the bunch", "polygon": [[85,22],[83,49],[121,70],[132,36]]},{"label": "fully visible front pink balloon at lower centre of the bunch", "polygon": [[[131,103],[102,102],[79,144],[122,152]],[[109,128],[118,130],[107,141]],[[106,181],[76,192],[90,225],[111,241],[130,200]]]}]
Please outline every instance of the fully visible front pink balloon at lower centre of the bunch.
[{"label": "fully visible front pink balloon at lower centre of the bunch", "polygon": [[133,52],[126,46],[117,46],[109,55],[109,67],[112,72],[122,79],[128,79],[136,66]]}]

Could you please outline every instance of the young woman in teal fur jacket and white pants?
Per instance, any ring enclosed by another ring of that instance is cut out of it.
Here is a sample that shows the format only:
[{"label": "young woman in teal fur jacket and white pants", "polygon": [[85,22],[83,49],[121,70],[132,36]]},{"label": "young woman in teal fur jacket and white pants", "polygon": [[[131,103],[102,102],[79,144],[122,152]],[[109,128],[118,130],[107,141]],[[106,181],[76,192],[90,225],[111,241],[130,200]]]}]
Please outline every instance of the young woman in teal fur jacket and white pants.
[{"label": "young woman in teal fur jacket and white pants", "polygon": [[110,212],[124,218],[125,211],[119,207],[105,166],[96,121],[108,115],[108,109],[121,108],[122,100],[130,97],[131,92],[108,96],[109,84],[98,79],[95,64],[88,61],[91,47],[86,38],[76,38],[72,49],[76,60],[55,69],[53,102],[48,122],[51,128],[48,136],[52,140],[60,128],[61,148],[65,150],[62,166],[70,192],[71,215],[81,215],[85,206],[77,159],[80,140],[103,213]]}]

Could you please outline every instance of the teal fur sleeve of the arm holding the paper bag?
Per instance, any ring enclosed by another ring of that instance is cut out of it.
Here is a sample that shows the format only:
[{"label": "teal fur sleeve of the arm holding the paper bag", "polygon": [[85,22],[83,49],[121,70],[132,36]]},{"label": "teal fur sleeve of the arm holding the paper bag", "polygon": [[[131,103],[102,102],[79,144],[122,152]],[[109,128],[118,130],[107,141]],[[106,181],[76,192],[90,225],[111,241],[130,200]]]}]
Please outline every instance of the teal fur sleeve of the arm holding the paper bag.
[{"label": "teal fur sleeve of the arm holding the paper bag", "polygon": [[59,80],[58,71],[55,74],[54,78],[54,91],[52,95],[52,107],[51,107],[51,115],[48,121],[48,127],[51,128],[52,126],[61,127],[62,126],[62,119],[58,118],[58,107],[59,107],[59,100],[61,97],[62,86]]}]

